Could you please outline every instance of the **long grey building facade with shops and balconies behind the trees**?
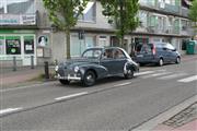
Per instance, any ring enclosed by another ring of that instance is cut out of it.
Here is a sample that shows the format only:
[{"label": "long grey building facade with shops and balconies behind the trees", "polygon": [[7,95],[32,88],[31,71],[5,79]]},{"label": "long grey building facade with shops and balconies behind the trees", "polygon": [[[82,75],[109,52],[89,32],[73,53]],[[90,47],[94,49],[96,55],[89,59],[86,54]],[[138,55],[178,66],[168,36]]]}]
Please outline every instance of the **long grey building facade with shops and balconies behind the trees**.
[{"label": "long grey building facade with shops and balconies behind the trees", "polygon": [[[169,41],[184,53],[186,40],[194,36],[188,20],[189,0],[139,0],[140,26],[125,36],[124,48],[134,44]],[[118,46],[115,27],[102,14],[99,1],[88,3],[85,13],[71,29],[71,57],[94,46]],[[8,66],[16,57],[19,66],[66,58],[66,35],[47,17],[42,0],[0,1],[0,61]]]}]

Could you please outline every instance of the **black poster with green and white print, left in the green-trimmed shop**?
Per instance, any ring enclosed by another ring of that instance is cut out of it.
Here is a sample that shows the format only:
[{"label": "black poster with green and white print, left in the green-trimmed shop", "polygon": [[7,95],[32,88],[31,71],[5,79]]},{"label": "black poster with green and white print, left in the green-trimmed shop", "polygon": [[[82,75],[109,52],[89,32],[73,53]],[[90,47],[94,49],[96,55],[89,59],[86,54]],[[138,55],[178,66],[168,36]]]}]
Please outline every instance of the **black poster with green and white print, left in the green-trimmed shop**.
[{"label": "black poster with green and white print, left in the green-trimmed shop", "polygon": [[21,55],[20,39],[5,39],[7,55]]}]

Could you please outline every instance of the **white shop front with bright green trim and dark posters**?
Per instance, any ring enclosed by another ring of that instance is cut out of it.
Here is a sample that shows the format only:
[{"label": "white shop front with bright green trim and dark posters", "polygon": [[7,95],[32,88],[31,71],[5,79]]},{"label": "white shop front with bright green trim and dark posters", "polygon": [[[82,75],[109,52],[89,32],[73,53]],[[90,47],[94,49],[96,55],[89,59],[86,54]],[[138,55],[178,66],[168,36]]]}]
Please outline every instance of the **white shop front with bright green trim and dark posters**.
[{"label": "white shop front with bright green trim and dark posters", "polygon": [[32,59],[36,66],[36,40],[34,31],[1,31],[0,61],[9,67],[13,59],[18,66],[31,66]]}]

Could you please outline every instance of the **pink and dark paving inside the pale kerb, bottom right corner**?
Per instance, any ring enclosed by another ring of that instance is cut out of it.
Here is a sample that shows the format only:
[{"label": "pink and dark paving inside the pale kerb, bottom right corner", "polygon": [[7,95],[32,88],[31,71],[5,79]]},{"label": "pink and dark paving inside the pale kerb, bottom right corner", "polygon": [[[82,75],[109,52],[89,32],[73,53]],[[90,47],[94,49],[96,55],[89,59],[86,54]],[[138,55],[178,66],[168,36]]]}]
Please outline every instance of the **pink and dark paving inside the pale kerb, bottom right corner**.
[{"label": "pink and dark paving inside the pale kerb, bottom right corner", "polygon": [[153,131],[196,131],[197,102],[153,128]]}]

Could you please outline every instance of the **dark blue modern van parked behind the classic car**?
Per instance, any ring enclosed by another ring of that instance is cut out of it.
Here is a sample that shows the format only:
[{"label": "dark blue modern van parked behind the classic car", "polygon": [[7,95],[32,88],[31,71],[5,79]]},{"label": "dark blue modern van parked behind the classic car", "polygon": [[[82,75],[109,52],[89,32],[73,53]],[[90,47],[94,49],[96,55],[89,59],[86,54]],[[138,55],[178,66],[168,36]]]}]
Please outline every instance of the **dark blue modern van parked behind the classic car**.
[{"label": "dark blue modern van parked behind the classic car", "polygon": [[140,45],[135,60],[141,66],[146,63],[163,66],[171,62],[179,63],[181,55],[167,43],[143,44]]}]

